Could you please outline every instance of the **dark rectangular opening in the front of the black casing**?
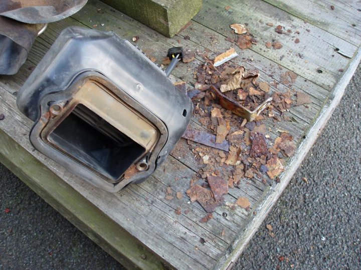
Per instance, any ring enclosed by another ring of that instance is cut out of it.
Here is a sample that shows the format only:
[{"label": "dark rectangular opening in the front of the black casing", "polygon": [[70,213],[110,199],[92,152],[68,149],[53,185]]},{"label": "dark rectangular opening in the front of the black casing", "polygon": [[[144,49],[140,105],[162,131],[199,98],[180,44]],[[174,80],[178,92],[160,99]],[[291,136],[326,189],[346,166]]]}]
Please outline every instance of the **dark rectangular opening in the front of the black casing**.
[{"label": "dark rectangular opening in the front of the black casing", "polygon": [[48,135],[55,147],[116,182],[145,148],[83,104]]}]

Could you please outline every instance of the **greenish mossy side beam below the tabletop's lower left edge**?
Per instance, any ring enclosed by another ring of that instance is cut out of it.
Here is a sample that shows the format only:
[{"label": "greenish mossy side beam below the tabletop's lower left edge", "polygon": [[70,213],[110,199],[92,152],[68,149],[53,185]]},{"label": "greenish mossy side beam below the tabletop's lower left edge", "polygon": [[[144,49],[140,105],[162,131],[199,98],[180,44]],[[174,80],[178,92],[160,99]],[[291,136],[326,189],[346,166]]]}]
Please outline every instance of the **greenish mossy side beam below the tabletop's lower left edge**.
[{"label": "greenish mossy side beam below the tabletop's lower left edge", "polygon": [[0,140],[0,161],[122,265],[129,269],[171,268],[2,129]]}]

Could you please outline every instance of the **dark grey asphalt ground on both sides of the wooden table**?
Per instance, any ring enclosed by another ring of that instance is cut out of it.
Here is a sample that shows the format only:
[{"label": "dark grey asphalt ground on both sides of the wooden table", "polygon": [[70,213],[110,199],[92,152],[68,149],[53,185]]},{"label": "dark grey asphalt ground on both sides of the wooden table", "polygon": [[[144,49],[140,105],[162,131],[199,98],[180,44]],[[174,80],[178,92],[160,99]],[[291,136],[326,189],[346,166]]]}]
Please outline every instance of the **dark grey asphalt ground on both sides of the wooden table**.
[{"label": "dark grey asphalt ground on both sides of the wooden table", "polygon": [[[361,269],[360,90],[358,68],[323,133],[234,269]],[[119,268],[0,164],[0,269]]]}]

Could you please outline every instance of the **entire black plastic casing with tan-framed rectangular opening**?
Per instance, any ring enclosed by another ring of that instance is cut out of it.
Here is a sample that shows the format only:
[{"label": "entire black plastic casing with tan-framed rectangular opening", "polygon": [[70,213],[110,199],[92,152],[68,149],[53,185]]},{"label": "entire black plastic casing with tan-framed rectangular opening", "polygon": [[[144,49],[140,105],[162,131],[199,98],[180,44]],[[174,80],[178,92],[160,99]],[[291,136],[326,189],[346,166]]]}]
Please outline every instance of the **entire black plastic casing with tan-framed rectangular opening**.
[{"label": "entire black plastic casing with tan-framed rectangular opening", "polygon": [[65,29],[18,93],[39,151],[117,191],[148,177],[193,111],[156,64],[113,32]]}]

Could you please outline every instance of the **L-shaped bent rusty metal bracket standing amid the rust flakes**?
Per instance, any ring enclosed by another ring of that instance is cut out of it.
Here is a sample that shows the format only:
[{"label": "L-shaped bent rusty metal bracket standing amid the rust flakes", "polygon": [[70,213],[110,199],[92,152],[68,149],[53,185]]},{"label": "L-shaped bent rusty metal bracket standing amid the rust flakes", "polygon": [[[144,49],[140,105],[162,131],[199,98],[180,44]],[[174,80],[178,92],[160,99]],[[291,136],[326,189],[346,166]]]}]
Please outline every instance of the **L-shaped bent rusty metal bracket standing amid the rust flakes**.
[{"label": "L-shaped bent rusty metal bracket standing amid the rust flakes", "polygon": [[234,114],[246,118],[247,121],[253,121],[266,107],[271,104],[272,97],[267,98],[254,110],[249,110],[246,107],[239,104],[237,101],[229,98],[221,93],[215,86],[211,86],[212,94],[214,98],[217,98],[218,103],[225,109],[231,110]]}]

